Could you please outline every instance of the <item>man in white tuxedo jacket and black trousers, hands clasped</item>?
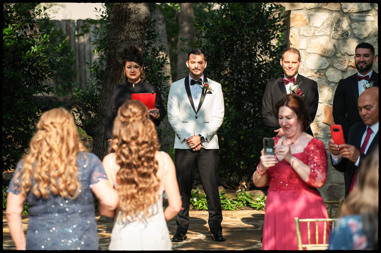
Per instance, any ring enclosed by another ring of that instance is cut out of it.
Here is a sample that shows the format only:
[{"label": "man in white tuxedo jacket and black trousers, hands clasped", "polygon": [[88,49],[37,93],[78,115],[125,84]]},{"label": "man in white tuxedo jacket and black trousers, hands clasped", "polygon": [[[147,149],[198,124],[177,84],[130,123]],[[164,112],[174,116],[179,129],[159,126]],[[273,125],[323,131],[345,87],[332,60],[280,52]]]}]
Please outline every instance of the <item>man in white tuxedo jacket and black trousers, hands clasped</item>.
[{"label": "man in white tuxedo jacket and black trousers, hands clasped", "polygon": [[176,216],[177,230],[173,242],[186,239],[189,226],[189,204],[196,168],[207,195],[208,224],[212,238],[224,241],[222,210],[218,192],[217,130],[224,119],[224,98],[221,84],[208,79],[205,53],[194,49],[186,62],[191,72],[186,78],[171,84],[168,96],[168,119],[175,131],[176,176],[182,196],[182,207]]}]

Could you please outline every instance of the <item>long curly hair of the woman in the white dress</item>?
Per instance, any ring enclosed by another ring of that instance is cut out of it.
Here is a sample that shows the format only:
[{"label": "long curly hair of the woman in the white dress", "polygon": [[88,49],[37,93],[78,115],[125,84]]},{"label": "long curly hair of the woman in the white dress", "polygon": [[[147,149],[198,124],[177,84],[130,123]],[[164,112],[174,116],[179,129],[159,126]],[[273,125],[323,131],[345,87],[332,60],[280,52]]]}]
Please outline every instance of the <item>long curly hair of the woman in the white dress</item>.
[{"label": "long curly hair of the woman in the white dress", "polygon": [[147,207],[157,200],[160,187],[155,159],[160,144],[147,110],[138,100],[123,103],[112,129],[112,149],[120,166],[116,175],[119,207],[124,217],[141,212],[149,215]]}]

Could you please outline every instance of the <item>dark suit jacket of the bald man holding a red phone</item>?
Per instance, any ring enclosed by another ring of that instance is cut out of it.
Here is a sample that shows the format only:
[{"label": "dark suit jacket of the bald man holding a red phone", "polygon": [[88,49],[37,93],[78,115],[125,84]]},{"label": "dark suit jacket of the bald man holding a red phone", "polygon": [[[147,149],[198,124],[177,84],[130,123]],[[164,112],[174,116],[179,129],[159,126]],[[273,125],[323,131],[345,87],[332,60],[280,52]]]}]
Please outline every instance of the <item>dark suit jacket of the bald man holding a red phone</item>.
[{"label": "dark suit jacket of the bald man holding a red phone", "polygon": [[[357,148],[357,150],[360,150],[361,148],[361,139],[362,136],[367,129],[367,126],[364,124],[363,121],[354,124],[350,129],[349,129],[349,135],[348,135],[348,144],[353,145]],[[375,138],[373,138],[372,142],[370,143],[370,146],[367,150],[367,154],[370,154],[375,148],[375,146],[378,144],[378,131],[376,133]],[[355,171],[359,171],[362,162],[364,161],[364,158],[367,156],[367,154],[360,153],[360,161],[359,161],[359,166],[356,166],[354,162],[352,162],[349,159],[342,158],[341,161],[333,165],[336,170],[340,172],[344,172],[344,181],[345,181],[345,195],[348,194],[349,191],[349,186],[351,185],[353,173]],[[331,156],[330,156],[331,157]]]}]

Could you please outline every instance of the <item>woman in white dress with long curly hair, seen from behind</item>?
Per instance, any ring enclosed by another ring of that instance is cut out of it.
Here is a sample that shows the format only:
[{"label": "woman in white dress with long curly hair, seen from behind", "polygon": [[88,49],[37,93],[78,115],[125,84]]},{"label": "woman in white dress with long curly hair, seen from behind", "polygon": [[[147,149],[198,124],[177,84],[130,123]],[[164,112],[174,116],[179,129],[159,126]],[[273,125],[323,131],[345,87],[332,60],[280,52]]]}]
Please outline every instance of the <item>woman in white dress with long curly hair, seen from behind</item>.
[{"label": "woman in white dress with long curly hair, seen from behind", "polygon": [[[155,124],[147,107],[130,100],[119,108],[112,130],[112,149],[103,159],[120,195],[110,250],[171,250],[166,221],[181,208],[171,157],[159,152]],[[168,207],[163,212],[163,191]]]}]

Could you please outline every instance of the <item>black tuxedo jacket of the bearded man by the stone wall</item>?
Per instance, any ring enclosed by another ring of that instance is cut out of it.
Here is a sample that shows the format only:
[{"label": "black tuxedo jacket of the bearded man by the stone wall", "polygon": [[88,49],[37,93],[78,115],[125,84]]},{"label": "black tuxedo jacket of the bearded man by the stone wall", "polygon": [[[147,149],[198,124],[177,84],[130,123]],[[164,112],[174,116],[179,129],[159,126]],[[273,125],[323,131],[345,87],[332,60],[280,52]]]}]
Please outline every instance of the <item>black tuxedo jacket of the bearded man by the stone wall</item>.
[{"label": "black tuxedo jacket of the bearded man by the stone wall", "polygon": [[[357,109],[357,100],[359,100],[359,82],[357,73],[341,79],[337,85],[335,96],[333,97],[332,115],[335,124],[343,127],[344,138],[347,142],[349,128],[357,122],[362,122]],[[378,87],[378,73],[373,70],[369,82]]]}]

